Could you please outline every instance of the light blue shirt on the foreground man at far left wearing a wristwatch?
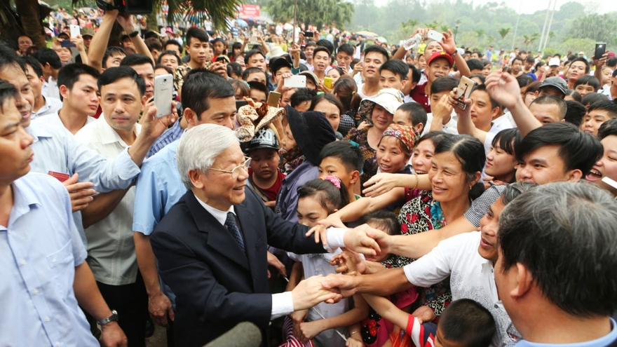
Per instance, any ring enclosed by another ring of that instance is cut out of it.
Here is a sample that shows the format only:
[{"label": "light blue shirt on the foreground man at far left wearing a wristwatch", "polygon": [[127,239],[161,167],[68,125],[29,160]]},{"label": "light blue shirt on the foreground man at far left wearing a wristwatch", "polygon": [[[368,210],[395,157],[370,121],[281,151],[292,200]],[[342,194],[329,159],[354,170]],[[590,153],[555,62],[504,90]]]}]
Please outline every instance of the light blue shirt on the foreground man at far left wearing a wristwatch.
[{"label": "light blue shirt on the foreground man at far left wearing a wristwatch", "polygon": [[99,346],[73,292],[86,259],[67,189],[48,175],[13,182],[0,225],[0,346]]}]

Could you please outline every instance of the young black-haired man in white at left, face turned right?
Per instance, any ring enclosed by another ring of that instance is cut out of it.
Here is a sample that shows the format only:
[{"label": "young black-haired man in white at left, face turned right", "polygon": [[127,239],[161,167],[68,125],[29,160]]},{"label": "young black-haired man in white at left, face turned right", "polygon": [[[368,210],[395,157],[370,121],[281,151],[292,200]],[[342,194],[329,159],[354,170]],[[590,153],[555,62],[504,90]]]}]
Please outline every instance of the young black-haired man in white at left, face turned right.
[{"label": "young black-haired man in white at left, face turned right", "polygon": [[58,73],[62,109],[57,114],[39,118],[37,122],[50,122],[64,126],[76,134],[92,122],[99,106],[97,79],[99,72],[86,64],[68,64]]}]

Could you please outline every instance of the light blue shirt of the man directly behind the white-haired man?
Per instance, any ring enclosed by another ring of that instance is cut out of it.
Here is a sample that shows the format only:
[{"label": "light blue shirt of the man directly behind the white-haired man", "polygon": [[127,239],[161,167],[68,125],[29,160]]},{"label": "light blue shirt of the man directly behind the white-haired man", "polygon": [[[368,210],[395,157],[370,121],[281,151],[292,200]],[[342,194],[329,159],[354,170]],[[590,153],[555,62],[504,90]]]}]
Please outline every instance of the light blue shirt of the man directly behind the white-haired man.
[{"label": "light blue shirt of the man directly behind the white-haired man", "polygon": [[187,193],[176,164],[178,144],[179,141],[172,142],[144,161],[135,188],[133,231],[150,235],[163,216]]}]

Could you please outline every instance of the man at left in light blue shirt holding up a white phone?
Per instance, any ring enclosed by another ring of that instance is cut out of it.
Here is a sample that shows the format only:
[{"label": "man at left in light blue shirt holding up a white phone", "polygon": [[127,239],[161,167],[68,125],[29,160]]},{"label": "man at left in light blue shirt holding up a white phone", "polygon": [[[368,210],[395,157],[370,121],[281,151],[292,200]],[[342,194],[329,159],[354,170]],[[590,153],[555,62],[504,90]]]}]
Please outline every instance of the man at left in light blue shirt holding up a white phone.
[{"label": "man at left in light blue shirt holding up a white phone", "polygon": [[[16,104],[22,114],[22,125],[29,135],[34,137],[32,149],[37,154],[32,162],[32,171],[45,174],[57,172],[72,176],[64,183],[71,196],[73,212],[88,207],[95,193],[93,189],[107,192],[130,186],[135,176],[139,174],[139,167],[151,145],[177,116],[172,114],[155,118],[156,109],[152,107],[144,115],[147,121],[142,124],[142,132],[137,136],[133,146],[123,151],[113,161],[108,161],[96,151],[77,142],[66,128],[50,124],[30,124],[34,94],[32,88],[29,88],[22,61],[13,50],[5,46],[0,46],[0,79],[13,84],[20,93]],[[172,107],[172,110],[174,109],[175,107]],[[86,243],[81,214],[75,213],[74,218],[81,238]]]}]

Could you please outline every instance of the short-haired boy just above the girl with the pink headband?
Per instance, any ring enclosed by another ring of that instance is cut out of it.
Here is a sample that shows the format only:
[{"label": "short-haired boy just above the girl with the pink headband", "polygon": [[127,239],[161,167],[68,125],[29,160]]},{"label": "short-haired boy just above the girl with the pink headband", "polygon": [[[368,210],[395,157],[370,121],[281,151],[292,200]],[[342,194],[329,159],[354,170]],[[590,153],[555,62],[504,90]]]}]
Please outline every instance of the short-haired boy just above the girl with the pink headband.
[{"label": "short-haired boy just above the girl with the pink headband", "polygon": [[[356,183],[360,182],[360,172],[364,160],[360,149],[351,142],[336,141],[326,144],[320,153],[319,178],[336,176],[347,188],[349,201],[360,198],[354,194]],[[358,189],[360,187],[358,186]]]}]

